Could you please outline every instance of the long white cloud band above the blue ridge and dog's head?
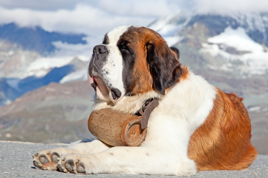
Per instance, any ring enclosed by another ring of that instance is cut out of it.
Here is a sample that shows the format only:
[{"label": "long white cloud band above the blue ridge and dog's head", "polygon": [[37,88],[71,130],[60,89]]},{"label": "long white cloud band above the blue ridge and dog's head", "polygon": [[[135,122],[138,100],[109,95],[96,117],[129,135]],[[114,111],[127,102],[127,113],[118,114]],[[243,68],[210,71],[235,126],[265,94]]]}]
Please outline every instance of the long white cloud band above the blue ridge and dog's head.
[{"label": "long white cloud band above the blue ridge and dog's head", "polygon": [[39,25],[48,31],[85,34],[106,33],[118,25],[148,25],[154,18],[111,15],[98,7],[77,5],[73,10],[37,11],[0,7],[0,23],[20,26]]}]

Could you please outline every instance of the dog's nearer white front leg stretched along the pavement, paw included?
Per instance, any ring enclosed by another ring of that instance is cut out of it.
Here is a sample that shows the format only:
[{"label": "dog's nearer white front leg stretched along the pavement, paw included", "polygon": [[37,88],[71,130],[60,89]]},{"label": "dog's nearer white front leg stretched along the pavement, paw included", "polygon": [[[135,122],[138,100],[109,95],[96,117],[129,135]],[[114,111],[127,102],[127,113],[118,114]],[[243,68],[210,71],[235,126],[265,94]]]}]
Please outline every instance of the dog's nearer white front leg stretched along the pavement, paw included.
[{"label": "dog's nearer white front leg stretched along the pavement, paw included", "polygon": [[154,174],[191,176],[195,164],[175,148],[113,147],[94,154],[68,154],[60,157],[59,169],[80,174]]}]

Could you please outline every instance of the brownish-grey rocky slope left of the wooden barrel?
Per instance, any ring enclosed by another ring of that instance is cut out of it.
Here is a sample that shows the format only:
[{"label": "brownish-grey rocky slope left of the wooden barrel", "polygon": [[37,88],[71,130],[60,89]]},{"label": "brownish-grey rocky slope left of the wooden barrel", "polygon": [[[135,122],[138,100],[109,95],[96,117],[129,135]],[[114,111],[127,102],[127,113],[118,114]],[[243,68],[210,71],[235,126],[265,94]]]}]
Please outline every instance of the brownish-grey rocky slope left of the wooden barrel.
[{"label": "brownish-grey rocky slope left of the wooden barrel", "polygon": [[50,83],[0,108],[0,140],[70,143],[87,128],[95,92],[88,81]]}]

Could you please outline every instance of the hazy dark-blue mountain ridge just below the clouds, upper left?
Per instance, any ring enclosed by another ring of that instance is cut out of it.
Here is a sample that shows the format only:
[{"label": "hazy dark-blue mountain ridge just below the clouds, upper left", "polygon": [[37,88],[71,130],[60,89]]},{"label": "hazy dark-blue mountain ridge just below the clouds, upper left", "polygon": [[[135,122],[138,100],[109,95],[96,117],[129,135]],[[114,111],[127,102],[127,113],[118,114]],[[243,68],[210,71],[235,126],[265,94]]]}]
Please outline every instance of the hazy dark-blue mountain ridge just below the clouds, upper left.
[{"label": "hazy dark-blue mountain ridge just below the clouds, upper left", "polygon": [[42,55],[54,52],[56,47],[52,42],[62,41],[71,44],[85,44],[84,34],[62,34],[48,32],[39,26],[19,27],[15,23],[0,25],[0,39],[16,43],[24,50],[36,51]]}]

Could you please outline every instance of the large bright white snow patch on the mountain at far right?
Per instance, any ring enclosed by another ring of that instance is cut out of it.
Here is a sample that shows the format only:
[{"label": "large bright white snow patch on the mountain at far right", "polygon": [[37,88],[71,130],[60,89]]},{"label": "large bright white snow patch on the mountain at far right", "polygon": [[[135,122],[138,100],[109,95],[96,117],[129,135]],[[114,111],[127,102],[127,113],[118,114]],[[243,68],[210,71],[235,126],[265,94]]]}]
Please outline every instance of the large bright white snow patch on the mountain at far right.
[{"label": "large bright white snow patch on the mountain at far right", "polygon": [[[227,27],[223,33],[208,38],[207,41],[210,44],[203,43],[199,52],[209,53],[212,57],[223,57],[226,64],[219,67],[220,70],[233,71],[232,62],[241,61],[241,65],[236,67],[241,75],[247,74],[250,77],[252,74],[264,75],[268,72],[268,52],[262,45],[253,41],[245,29]],[[222,46],[225,47],[222,48]],[[247,53],[230,54],[226,52],[227,47],[232,47],[237,52],[246,51]],[[208,67],[211,68],[211,66]]]}]

